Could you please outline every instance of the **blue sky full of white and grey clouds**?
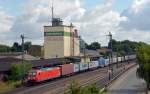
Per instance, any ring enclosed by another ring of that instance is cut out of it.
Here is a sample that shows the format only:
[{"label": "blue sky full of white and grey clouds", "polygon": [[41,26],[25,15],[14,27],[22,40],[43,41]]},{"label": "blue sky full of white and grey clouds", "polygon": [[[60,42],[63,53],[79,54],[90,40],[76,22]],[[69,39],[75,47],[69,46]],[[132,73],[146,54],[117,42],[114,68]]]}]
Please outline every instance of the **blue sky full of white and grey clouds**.
[{"label": "blue sky full of white and grey clouds", "polygon": [[[0,0],[0,44],[25,41],[43,45],[43,26],[51,25],[52,0]],[[150,44],[150,0],[54,0],[54,16],[73,23],[87,42],[118,41]]]}]

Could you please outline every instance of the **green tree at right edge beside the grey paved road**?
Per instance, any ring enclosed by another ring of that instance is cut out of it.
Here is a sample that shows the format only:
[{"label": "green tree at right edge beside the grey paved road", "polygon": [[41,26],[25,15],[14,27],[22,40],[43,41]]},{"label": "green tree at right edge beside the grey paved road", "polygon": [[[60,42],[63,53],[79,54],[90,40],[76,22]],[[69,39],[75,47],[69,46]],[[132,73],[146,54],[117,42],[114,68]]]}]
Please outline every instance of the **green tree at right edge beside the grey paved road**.
[{"label": "green tree at right edge beside the grey paved road", "polygon": [[146,81],[147,88],[150,89],[150,46],[141,43],[137,52],[137,58],[139,61],[137,75]]}]

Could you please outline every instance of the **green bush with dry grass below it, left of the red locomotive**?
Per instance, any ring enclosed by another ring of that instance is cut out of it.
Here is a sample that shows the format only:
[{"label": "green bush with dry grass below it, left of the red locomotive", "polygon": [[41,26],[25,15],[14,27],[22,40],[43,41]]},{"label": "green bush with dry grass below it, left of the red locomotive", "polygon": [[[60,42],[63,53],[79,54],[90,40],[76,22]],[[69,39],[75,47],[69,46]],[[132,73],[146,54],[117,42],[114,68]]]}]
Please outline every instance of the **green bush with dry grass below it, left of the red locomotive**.
[{"label": "green bush with dry grass below it, left of the red locomotive", "polygon": [[0,82],[0,93],[13,90],[22,86],[22,82],[32,65],[29,62],[12,64],[10,72],[4,77],[4,81]]}]

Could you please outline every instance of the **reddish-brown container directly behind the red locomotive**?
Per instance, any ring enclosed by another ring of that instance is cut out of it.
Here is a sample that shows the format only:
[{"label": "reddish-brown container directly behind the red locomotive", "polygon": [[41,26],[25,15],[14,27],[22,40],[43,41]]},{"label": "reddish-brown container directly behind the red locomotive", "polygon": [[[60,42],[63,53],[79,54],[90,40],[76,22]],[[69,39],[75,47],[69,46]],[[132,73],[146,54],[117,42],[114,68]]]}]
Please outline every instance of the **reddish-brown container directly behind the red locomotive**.
[{"label": "reddish-brown container directly behind the red locomotive", "polygon": [[62,76],[72,74],[74,72],[74,64],[72,63],[60,65],[60,68]]}]

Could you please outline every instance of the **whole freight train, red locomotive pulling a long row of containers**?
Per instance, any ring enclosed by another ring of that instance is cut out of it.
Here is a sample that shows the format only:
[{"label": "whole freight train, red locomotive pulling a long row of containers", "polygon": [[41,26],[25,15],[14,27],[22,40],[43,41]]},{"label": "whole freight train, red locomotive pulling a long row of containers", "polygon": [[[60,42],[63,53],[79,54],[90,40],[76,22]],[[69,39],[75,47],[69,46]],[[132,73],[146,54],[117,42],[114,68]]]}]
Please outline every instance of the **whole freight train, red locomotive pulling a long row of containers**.
[{"label": "whole freight train, red locomotive pulling a long row of containers", "polygon": [[41,82],[49,79],[64,77],[68,75],[72,75],[75,73],[105,67],[109,64],[127,61],[131,59],[135,59],[136,55],[128,55],[125,57],[118,57],[112,58],[111,63],[109,59],[99,58],[98,60],[91,61],[90,63],[70,63],[70,64],[63,64],[56,67],[50,68],[40,68],[40,69],[33,69],[28,73],[27,80],[28,82]]}]

